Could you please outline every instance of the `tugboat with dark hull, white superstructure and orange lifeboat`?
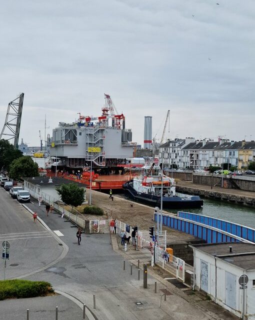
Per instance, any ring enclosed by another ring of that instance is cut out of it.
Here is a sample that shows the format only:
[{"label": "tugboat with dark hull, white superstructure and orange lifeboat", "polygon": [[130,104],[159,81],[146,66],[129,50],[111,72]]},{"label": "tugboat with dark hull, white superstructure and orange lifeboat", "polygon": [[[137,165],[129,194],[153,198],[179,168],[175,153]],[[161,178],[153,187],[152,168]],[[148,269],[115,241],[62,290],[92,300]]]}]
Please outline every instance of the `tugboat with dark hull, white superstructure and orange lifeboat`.
[{"label": "tugboat with dark hull, white superstructure and orange lifeboat", "polygon": [[166,175],[162,163],[160,165],[143,166],[142,172],[123,184],[124,193],[130,199],[144,202],[153,206],[161,204],[170,209],[200,208],[203,200],[198,195],[176,195],[175,181]]}]

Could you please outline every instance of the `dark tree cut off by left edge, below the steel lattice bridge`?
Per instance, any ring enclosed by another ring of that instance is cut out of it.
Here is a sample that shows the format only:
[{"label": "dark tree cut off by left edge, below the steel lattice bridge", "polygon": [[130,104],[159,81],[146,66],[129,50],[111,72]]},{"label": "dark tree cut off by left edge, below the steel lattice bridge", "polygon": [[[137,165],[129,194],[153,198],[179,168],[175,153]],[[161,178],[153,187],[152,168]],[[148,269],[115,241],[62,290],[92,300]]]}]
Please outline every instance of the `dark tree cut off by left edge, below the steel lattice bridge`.
[{"label": "dark tree cut off by left edge, below the steel lattice bridge", "polygon": [[0,140],[0,168],[8,171],[10,163],[20,156],[22,156],[22,152],[15,149],[8,140]]}]

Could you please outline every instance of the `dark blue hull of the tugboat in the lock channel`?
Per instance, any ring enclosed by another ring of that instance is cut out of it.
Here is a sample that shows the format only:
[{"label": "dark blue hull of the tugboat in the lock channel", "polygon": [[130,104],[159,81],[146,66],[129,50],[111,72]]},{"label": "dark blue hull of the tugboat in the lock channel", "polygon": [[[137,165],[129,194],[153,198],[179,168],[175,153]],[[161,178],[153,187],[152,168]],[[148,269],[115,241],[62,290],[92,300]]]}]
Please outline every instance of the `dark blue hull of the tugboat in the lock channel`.
[{"label": "dark blue hull of the tugboat in the lock channel", "polygon": [[[129,182],[123,184],[124,193],[132,200],[147,203],[153,206],[160,207],[160,196],[137,192]],[[200,208],[203,205],[203,200],[198,195],[193,195],[190,198],[182,198],[180,196],[163,196],[163,208],[169,209],[185,209],[185,208]]]}]

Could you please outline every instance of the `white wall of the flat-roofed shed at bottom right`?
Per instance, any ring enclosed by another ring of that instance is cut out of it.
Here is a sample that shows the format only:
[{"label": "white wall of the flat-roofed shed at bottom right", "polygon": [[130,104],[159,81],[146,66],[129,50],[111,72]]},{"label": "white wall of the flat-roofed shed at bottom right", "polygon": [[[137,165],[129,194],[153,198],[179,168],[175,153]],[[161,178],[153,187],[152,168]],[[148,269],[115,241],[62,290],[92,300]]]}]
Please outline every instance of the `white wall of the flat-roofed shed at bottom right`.
[{"label": "white wall of the flat-roofed shed at bottom right", "polygon": [[[201,260],[208,265],[208,289],[205,291],[216,303],[239,317],[242,315],[243,290],[239,289],[238,278],[242,273],[246,273],[248,275],[249,281],[246,289],[245,313],[248,315],[248,320],[255,320],[255,285],[253,286],[252,281],[255,279],[255,270],[245,271],[220,258],[216,257],[215,259],[210,254],[194,250],[194,287],[197,290],[202,289],[203,286],[203,283],[201,283],[201,277],[203,280],[205,278],[205,274],[201,275]],[[235,303],[235,309],[227,305],[226,295],[228,293],[226,287],[226,272],[230,273],[230,275],[233,275],[233,278],[235,278],[235,285],[233,286],[233,290],[235,290],[235,301],[231,302]]]}]

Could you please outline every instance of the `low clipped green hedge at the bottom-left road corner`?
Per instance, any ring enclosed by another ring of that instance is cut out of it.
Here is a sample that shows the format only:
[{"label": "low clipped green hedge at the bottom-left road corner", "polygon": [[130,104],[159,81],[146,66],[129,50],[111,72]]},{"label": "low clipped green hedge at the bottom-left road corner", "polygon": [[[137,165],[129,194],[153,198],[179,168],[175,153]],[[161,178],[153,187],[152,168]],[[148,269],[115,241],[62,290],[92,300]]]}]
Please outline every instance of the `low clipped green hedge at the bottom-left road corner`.
[{"label": "low clipped green hedge at the bottom-left road corner", "polygon": [[51,284],[46,281],[0,280],[0,300],[44,296],[53,291]]}]

